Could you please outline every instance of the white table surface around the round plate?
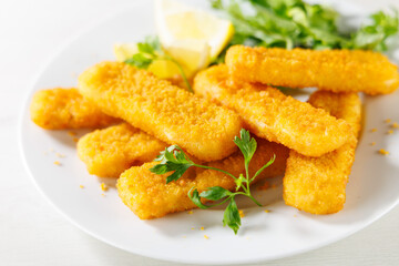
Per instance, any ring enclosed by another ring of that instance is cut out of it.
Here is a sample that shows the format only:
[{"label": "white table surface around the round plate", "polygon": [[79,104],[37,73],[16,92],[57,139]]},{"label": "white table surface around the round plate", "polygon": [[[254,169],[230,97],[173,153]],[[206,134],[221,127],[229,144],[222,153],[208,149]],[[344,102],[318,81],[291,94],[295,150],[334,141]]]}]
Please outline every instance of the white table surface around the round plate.
[{"label": "white table surface around the round plate", "polygon": [[[0,265],[175,265],[129,254],[74,227],[34,187],[18,150],[22,100],[38,71],[82,28],[131,2],[0,0]],[[398,0],[351,2],[370,11],[399,8]],[[399,265],[398,224],[399,206],[346,239],[263,265]]]}]

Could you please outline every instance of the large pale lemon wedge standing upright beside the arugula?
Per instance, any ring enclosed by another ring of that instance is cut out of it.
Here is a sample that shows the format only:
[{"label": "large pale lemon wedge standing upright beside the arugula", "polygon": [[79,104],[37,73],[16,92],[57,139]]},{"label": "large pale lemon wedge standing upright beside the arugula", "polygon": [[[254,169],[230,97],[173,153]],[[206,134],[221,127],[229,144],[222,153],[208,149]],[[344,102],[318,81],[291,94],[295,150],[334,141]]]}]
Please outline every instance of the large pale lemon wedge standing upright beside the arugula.
[{"label": "large pale lemon wedge standing upright beside the arugula", "polygon": [[233,24],[174,0],[155,1],[155,24],[164,50],[192,76],[216,58],[234,34]]}]

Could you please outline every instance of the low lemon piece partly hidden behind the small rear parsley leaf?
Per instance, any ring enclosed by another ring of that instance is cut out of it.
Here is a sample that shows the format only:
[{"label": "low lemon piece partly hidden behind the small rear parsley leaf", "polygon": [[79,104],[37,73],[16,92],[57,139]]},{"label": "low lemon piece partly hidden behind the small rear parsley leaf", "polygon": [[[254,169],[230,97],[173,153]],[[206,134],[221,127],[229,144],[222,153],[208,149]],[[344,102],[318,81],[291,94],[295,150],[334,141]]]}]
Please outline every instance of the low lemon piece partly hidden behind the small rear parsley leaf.
[{"label": "low lemon piece partly hidden behind the small rear parsley leaf", "polygon": [[[114,44],[114,54],[117,61],[124,62],[125,60],[133,57],[133,54],[139,52],[136,43],[116,43]],[[154,60],[149,69],[160,79],[173,79],[176,75],[180,75],[181,72],[177,65],[167,60]]]}]

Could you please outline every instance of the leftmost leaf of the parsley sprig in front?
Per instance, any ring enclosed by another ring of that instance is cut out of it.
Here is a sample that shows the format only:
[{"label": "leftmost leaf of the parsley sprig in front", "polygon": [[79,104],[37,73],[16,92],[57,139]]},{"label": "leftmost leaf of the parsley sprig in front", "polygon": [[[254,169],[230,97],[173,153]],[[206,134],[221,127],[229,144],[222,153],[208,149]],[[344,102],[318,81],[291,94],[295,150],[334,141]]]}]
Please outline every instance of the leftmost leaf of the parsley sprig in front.
[{"label": "leftmost leaf of the parsley sprig in front", "polygon": [[154,161],[160,162],[160,164],[150,168],[154,174],[173,172],[166,177],[166,184],[178,180],[187,168],[195,165],[177,145],[166,147]]}]

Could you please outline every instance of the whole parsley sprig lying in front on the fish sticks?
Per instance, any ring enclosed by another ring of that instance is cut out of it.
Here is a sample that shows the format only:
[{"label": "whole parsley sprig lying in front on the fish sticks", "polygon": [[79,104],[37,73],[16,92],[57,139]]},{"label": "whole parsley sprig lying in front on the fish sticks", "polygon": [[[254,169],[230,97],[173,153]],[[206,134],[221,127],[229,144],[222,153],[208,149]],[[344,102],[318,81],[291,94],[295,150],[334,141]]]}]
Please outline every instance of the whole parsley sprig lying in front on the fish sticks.
[{"label": "whole parsley sprig lying in front on the fish sticks", "polygon": [[[238,176],[234,176],[233,174],[224,170],[194,163],[177,145],[168,146],[165,149],[165,151],[161,152],[161,154],[155,158],[155,161],[160,163],[154,167],[150,168],[150,171],[155,174],[166,174],[168,172],[173,172],[166,177],[166,184],[173,181],[177,181],[192,166],[215,170],[231,176],[236,184],[234,192],[227,191],[226,188],[221,186],[213,186],[208,187],[202,193],[198,193],[197,188],[192,187],[188,192],[188,197],[200,208],[209,208],[229,202],[226,209],[224,211],[223,225],[227,225],[234,231],[235,234],[237,234],[241,226],[241,216],[237,204],[235,202],[235,197],[237,195],[247,196],[256,205],[262,206],[262,204],[256,201],[255,197],[250,194],[249,186],[266,167],[274,163],[276,155],[274,155],[270,161],[268,161],[263,167],[260,167],[254,176],[250,176],[249,163],[256,152],[257,143],[254,137],[250,137],[249,132],[244,129],[241,130],[239,137],[236,136],[234,139],[234,143],[239,147],[241,152],[244,155],[245,173],[242,173]],[[202,198],[208,201],[218,201],[218,203],[213,205],[205,205],[202,203]]]}]

